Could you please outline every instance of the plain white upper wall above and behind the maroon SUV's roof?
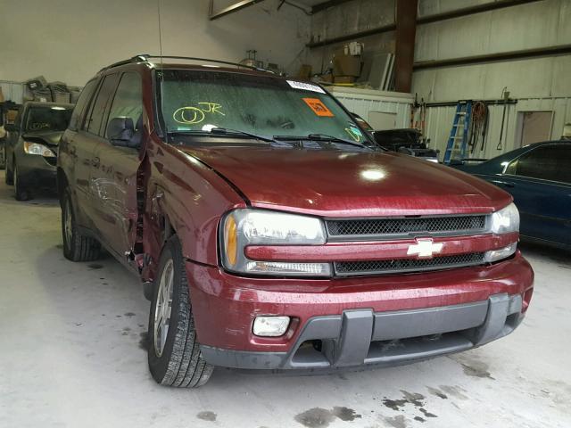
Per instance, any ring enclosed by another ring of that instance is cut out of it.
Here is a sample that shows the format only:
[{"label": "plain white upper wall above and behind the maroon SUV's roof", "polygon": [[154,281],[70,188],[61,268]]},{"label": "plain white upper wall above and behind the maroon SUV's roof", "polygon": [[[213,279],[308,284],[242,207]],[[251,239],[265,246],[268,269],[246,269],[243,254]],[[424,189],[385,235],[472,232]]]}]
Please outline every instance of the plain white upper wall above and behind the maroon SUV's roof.
[{"label": "plain white upper wall above and behind the maroon SUV's roof", "polygon": [[[44,75],[83,86],[105,65],[159,53],[156,0],[0,4],[0,79]],[[240,61],[247,49],[257,49],[258,59],[297,71],[310,18],[291,6],[277,11],[278,4],[268,0],[209,21],[208,0],[161,0],[163,53]]]}]

